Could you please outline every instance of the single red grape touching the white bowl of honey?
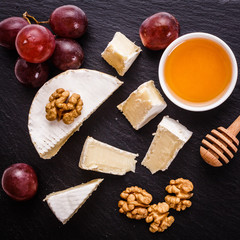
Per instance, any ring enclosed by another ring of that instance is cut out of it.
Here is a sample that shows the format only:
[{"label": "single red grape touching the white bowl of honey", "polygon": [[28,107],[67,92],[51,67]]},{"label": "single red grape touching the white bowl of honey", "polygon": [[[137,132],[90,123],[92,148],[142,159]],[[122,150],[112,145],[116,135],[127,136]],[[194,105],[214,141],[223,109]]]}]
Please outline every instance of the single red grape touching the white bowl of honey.
[{"label": "single red grape touching the white bowl of honey", "polygon": [[178,38],[180,26],[177,19],[169,13],[160,12],[148,17],[140,26],[142,44],[151,50],[166,48]]}]

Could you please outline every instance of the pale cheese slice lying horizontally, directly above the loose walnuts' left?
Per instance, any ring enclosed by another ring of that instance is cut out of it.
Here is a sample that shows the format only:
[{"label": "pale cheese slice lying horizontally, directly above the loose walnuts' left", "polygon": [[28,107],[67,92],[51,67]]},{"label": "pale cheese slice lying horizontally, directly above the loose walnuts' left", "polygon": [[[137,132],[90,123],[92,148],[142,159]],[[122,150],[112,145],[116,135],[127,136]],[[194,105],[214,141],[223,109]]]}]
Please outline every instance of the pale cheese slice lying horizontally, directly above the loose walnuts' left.
[{"label": "pale cheese slice lying horizontally, directly above the loose walnuts' left", "polygon": [[87,137],[81,153],[79,167],[115,175],[135,172],[138,154],[123,151],[106,143]]}]

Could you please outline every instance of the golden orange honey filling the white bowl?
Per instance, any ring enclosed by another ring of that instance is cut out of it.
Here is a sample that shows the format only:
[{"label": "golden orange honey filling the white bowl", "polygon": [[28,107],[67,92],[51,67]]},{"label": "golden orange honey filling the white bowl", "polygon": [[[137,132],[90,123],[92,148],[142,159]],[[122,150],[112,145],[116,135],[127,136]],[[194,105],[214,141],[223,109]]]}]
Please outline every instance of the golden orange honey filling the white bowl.
[{"label": "golden orange honey filling the white bowl", "polygon": [[163,74],[175,98],[203,106],[225,93],[232,79],[232,62],[218,43],[205,38],[187,39],[168,54]]}]

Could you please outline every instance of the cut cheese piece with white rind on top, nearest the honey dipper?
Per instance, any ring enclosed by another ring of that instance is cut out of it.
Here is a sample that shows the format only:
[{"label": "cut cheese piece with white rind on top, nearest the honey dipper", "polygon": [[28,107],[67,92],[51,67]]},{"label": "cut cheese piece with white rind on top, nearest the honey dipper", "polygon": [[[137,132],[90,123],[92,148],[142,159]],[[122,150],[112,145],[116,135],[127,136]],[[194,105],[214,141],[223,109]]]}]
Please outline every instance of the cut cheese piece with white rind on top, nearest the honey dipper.
[{"label": "cut cheese piece with white rind on top, nearest the honey dipper", "polygon": [[178,121],[168,116],[163,117],[142,165],[152,174],[166,170],[191,136],[192,132]]}]

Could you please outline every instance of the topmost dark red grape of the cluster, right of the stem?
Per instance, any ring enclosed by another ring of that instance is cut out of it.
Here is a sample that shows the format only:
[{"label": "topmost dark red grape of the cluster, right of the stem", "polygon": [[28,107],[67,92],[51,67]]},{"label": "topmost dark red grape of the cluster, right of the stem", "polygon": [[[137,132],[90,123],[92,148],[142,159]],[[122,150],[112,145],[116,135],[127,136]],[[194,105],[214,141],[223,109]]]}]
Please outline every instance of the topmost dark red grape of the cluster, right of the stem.
[{"label": "topmost dark red grape of the cluster, right of the stem", "polygon": [[52,12],[49,24],[60,37],[79,38],[86,32],[88,21],[81,8],[64,5]]}]

